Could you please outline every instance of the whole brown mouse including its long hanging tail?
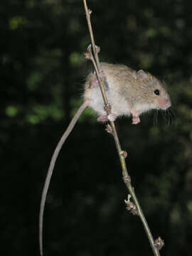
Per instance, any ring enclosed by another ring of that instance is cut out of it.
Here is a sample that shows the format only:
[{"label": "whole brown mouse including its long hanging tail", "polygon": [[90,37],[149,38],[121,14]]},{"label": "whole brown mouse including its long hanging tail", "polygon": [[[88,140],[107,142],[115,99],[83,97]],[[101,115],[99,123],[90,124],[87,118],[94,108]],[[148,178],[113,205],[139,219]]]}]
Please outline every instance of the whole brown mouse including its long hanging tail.
[{"label": "whole brown mouse including its long hanging tail", "polygon": [[162,82],[153,75],[145,73],[143,70],[132,70],[126,65],[100,64],[100,77],[105,82],[105,92],[108,102],[111,105],[112,114],[107,116],[104,110],[105,105],[97,77],[95,73],[90,73],[85,82],[84,102],[76,112],[55,148],[43,187],[39,214],[39,243],[41,255],[43,255],[43,211],[55,161],[65,139],[68,138],[68,135],[73,130],[75,123],[78,121],[80,114],[82,114],[85,108],[91,107],[92,110],[99,115],[97,118],[99,122],[107,122],[108,120],[114,121],[114,119],[119,116],[132,115],[132,124],[138,124],[140,122],[139,115],[143,112],[152,109],[166,110],[171,106],[168,92],[166,92]]}]

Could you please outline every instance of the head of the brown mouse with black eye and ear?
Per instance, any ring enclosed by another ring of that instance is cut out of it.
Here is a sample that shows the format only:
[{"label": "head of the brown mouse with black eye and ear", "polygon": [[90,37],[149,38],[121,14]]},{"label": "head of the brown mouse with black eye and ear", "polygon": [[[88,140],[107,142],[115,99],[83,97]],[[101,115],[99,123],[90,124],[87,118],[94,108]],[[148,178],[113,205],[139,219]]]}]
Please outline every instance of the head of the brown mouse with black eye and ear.
[{"label": "head of the brown mouse with black eye and ear", "polygon": [[139,70],[136,75],[144,89],[144,100],[151,104],[151,108],[166,110],[171,107],[169,94],[159,79],[143,70]]}]

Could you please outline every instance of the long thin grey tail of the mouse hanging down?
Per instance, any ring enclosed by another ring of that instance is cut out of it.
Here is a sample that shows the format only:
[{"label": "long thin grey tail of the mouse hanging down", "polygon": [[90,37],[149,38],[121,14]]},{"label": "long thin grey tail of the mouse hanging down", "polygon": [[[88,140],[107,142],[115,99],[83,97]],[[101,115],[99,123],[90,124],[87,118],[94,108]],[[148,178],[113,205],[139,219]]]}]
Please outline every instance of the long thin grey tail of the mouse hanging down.
[{"label": "long thin grey tail of the mouse hanging down", "polygon": [[43,192],[41,195],[41,205],[40,205],[40,213],[39,213],[39,247],[40,247],[41,256],[43,256],[43,213],[44,213],[44,208],[45,208],[45,204],[46,204],[46,196],[48,193],[48,186],[50,184],[50,178],[53,174],[55,161],[58,157],[61,147],[63,146],[63,144],[65,142],[65,139],[68,138],[70,132],[73,130],[73,127],[75,126],[76,122],[78,121],[80,115],[82,114],[82,112],[85,110],[85,108],[87,106],[88,106],[87,102],[83,102],[82,105],[80,106],[80,108],[78,109],[78,111],[75,113],[75,116],[70,121],[68,128],[65,130],[63,136],[60,138],[60,141],[58,142],[58,145],[56,146],[55,151],[52,156],[52,159],[50,161],[48,173],[46,176],[46,181],[44,183]]}]

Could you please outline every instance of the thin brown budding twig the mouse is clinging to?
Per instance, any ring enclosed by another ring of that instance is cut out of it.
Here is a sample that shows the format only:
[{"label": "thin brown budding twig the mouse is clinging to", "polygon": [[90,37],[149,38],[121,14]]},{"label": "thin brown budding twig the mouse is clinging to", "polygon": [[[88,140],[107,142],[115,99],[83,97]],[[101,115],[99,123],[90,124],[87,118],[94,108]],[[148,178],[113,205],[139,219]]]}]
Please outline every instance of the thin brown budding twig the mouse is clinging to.
[{"label": "thin brown budding twig the mouse is clinging to", "polygon": [[[107,115],[111,113],[111,107],[110,107],[110,103],[107,100],[107,95],[105,92],[105,87],[104,87],[104,82],[100,79],[100,62],[99,62],[99,58],[98,58],[98,53],[100,52],[100,48],[98,46],[95,46],[95,41],[94,41],[94,37],[93,37],[93,33],[92,33],[92,26],[91,26],[91,22],[90,22],[90,14],[92,13],[92,11],[90,11],[90,9],[87,8],[87,2],[86,0],[83,0],[84,2],[84,6],[85,6],[85,13],[86,13],[86,18],[87,18],[87,25],[90,31],[90,38],[91,38],[91,43],[92,43],[92,48],[91,46],[89,46],[87,48],[87,53],[85,53],[85,58],[89,58],[90,60],[92,60],[92,63],[94,65],[95,68],[95,72],[97,75],[97,80],[99,81],[100,84],[100,90],[102,92],[102,97],[103,100],[105,102],[105,111],[107,112]],[[94,56],[92,55],[92,50],[94,53]],[[142,212],[142,208],[139,205],[139,202],[137,200],[137,196],[134,193],[134,188],[132,187],[131,184],[131,178],[127,172],[127,166],[126,166],[126,162],[125,162],[125,157],[127,156],[127,153],[125,151],[122,151],[120,143],[119,143],[119,138],[117,135],[117,131],[114,125],[114,122],[110,122],[110,125],[107,126],[107,132],[112,133],[113,137],[114,137],[114,142],[116,144],[117,147],[117,152],[119,154],[119,160],[122,166],[122,176],[124,179],[124,183],[126,184],[128,190],[129,190],[129,194],[130,196],[128,197],[128,201],[125,201],[125,203],[127,204],[127,210],[130,210],[134,215],[139,215],[139,218],[142,220],[142,223],[144,225],[144,230],[146,232],[146,235],[149,239],[151,248],[154,252],[155,256],[160,256],[159,254],[159,250],[161,249],[161,246],[159,245],[159,240],[154,242],[154,238],[151,235],[151,231],[149,229],[149,225],[146,222],[146,218],[144,217],[144,213]],[[132,198],[132,202],[129,201],[130,197]],[[161,242],[162,244],[162,242]]]}]

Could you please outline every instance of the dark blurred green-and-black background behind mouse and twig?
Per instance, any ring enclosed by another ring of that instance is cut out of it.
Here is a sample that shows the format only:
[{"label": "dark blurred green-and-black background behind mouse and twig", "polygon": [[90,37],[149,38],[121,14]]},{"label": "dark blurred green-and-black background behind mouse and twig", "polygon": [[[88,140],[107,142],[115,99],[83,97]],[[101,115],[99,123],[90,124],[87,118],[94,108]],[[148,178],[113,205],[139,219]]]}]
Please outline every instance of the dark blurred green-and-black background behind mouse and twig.
[{"label": "dark blurred green-and-black background behind mouse and twig", "polygon": [[[148,70],[166,82],[169,113],[118,119],[132,185],[161,255],[192,253],[191,0],[87,1],[100,59]],[[1,1],[1,246],[39,255],[43,182],[61,134],[82,99],[90,36],[82,1]],[[171,117],[170,117],[171,116]],[[45,255],[153,255],[128,213],[119,159],[90,111],[63,146],[48,191]]]}]

